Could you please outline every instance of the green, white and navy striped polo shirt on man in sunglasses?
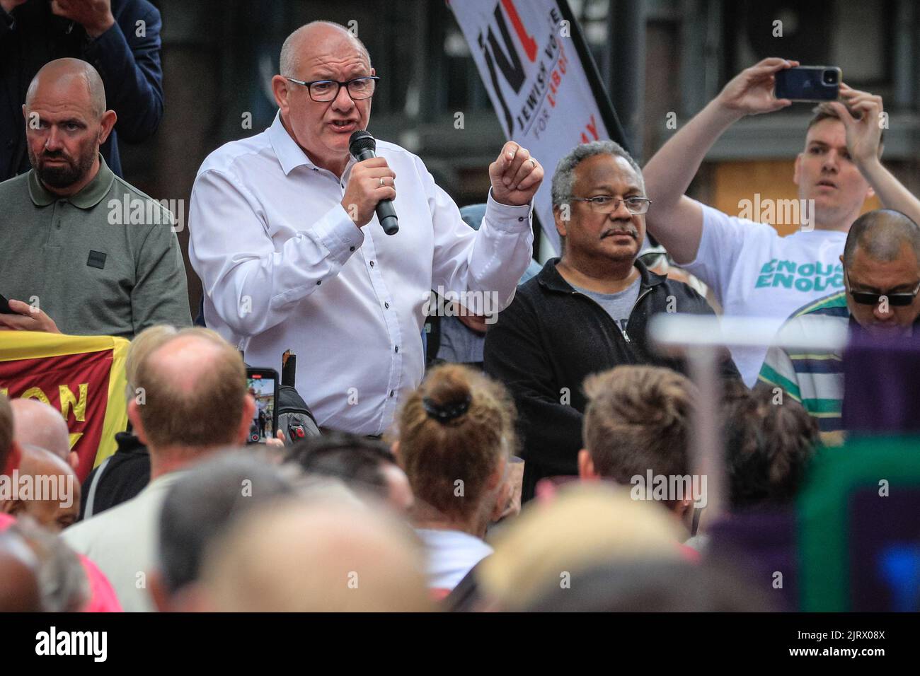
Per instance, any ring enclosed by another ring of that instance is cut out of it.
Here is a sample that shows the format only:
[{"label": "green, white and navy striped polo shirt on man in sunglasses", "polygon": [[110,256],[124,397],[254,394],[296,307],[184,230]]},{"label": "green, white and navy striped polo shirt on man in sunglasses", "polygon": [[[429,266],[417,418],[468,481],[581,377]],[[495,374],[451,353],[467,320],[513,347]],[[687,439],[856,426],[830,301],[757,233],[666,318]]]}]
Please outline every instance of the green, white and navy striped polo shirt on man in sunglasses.
[{"label": "green, white and navy striped polo shirt on man in sunglasses", "polygon": [[[833,317],[844,327],[850,322],[845,292],[836,292],[807,304],[789,317],[786,326],[808,330],[812,317]],[[822,321],[826,322],[827,319]],[[825,445],[844,442],[841,409],[844,403],[844,361],[839,352],[798,352],[773,347],[766,353],[758,383],[780,387],[818,420]]]}]

